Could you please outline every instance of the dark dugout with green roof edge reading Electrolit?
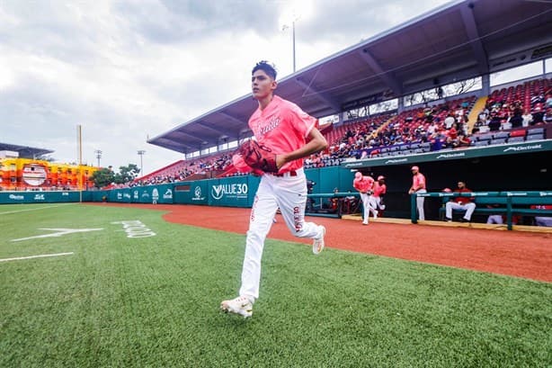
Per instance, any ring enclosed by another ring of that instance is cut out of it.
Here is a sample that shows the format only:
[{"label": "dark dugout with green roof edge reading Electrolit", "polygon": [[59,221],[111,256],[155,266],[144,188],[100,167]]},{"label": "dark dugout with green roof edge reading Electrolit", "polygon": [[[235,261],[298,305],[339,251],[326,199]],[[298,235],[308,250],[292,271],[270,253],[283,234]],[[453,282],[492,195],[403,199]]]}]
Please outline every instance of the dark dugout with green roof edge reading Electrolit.
[{"label": "dark dugout with green roof edge reading Electrolit", "polygon": [[[386,216],[409,218],[412,184],[410,168],[419,166],[428,192],[455,189],[459,181],[475,192],[544,191],[552,188],[552,141],[540,140],[489,148],[437,151],[406,157],[355,160],[342,164],[344,170],[387,177]],[[426,220],[438,220],[440,198],[426,198]],[[475,221],[482,219],[474,218]]]}]

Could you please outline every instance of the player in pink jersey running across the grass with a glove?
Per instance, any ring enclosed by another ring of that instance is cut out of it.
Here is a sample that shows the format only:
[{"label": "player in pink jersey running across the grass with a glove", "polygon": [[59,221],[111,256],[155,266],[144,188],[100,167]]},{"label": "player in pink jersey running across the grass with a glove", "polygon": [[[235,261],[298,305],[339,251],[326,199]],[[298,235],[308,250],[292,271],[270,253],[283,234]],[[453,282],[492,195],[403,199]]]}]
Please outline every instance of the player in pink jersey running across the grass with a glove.
[{"label": "player in pink jersey running across the grass with a glove", "polygon": [[278,171],[252,170],[245,164],[245,157],[233,157],[233,164],[239,171],[262,175],[245,240],[239,296],[220,304],[222,310],[245,318],[251,317],[254,301],[259,298],[264,239],[278,208],[293,235],[314,239],[314,254],[325,247],[325,227],[305,221],[307,177],[303,171],[303,157],[324,150],[327,142],[316,129],[316,118],[274,94],[277,85],[274,67],[266,61],[257,63],[252,71],[251,86],[259,106],[249,119],[249,127],[258,144],[276,155]]}]

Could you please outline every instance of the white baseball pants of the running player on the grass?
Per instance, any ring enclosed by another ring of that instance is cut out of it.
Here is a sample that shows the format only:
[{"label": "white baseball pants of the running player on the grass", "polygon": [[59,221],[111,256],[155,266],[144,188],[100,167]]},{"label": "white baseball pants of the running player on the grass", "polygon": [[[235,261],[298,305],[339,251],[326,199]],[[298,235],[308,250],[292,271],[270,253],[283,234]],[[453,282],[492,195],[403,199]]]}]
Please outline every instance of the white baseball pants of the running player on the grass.
[{"label": "white baseball pants of the running player on the grass", "polygon": [[307,178],[303,169],[297,170],[297,176],[262,176],[255,194],[245,239],[240,296],[246,296],[252,301],[259,298],[264,239],[272,227],[272,219],[278,208],[291,234],[298,238],[322,236],[318,225],[314,222],[305,222],[306,203]]}]

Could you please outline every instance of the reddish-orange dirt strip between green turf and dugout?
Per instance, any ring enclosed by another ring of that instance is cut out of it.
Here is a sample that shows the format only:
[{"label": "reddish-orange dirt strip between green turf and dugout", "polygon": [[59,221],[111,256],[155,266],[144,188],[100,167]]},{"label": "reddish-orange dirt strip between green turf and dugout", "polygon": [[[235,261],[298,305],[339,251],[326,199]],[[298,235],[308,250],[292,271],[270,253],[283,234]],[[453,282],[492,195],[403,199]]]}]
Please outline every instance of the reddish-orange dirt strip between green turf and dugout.
[{"label": "reddish-orange dirt strip between green turf and dugout", "polygon": [[[205,229],[245,234],[250,209],[177,204],[124,204],[157,211],[167,211],[169,222]],[[295,238],[282,217],[272,226],[268,238],[310,244]],[[466,229],[307,217],[326,228],[325,246],[413,260],[435,265],[505,274],[552,283],[552,234],[493,229]]]}]

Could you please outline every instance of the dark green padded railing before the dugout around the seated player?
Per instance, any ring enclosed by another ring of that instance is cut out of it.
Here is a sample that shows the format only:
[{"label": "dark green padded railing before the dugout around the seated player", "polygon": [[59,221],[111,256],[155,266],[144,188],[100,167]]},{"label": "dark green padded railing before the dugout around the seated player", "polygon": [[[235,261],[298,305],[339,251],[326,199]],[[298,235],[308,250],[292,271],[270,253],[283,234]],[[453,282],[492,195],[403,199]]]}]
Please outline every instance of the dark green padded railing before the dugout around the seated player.
[{"label": "dark green padded railing before the dugout around the seated player", "polygon": [[[552,205],[552,191],[505,191],[505,192],[474,192],[474,193],[414,193],[411,195],[411,220],[417,223],[416,198],[441,197],[440,218],[443,219],[445,205],[454,197],[473,197],[476,203],[474,214],[504,215],[507,229],[512,230],[513,215],[549,216],[552,210],[533,209],[533,205]],[[453,213],[463,213],[453,210]]]}]

